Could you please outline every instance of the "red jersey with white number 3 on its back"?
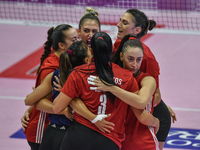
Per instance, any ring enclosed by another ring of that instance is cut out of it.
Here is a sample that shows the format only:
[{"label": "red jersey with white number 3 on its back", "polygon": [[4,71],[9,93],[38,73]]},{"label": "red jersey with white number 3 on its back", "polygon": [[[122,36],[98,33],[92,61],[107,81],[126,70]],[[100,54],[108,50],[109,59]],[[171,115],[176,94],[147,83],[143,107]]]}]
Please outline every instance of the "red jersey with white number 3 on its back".
[{"label": "red jersey with white number 3 on its back", "polygon": [[[137,91],[138,84],[132,72],[116,64],[112,65],[114,73],[113,80],[116,85],[130,92]],[[97,76],[97,74],[95,74],[94,62],[76,67],[68,77],[61,91],[71,98],[75,96],[81,98],[87,108],[96,115],[111,114],[111,116],[106,118],[107,121],[115,124],[114,130],[111,133],[101,132],[93,123],[77,113],[74,114],[74,118],[77,122],[108,137],[121,148],[121,142],[125,138],[125,119],[127,117],[128,105],[117,97],[113,104],[113,102],[107,98],[105,92],[90,90],[91,85],[87,83],[87,78],[91,74]]]}]

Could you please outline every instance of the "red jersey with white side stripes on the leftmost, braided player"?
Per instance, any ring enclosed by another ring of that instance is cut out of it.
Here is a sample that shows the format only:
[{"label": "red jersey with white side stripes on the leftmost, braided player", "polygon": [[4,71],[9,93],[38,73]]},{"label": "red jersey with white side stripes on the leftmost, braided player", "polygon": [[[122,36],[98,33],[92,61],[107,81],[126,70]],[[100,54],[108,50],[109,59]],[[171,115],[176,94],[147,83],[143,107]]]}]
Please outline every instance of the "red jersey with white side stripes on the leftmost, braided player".
[{"label": "red jersey with white side stripes on the leftmost, braided player", "polygon": [[[48,57],[42,63],[40,72],[37,75],[35,87],[41,84],[41,80],[44,79],[49,73],[55,71],[59,67],[59,57],[55,54],[49,54]],[[30,115],[28,126],[25,130],[26,139],[29,142],[41,143],[44,129],[49,124],[49,114],[36,109],[34,105],[33,111]]]}]

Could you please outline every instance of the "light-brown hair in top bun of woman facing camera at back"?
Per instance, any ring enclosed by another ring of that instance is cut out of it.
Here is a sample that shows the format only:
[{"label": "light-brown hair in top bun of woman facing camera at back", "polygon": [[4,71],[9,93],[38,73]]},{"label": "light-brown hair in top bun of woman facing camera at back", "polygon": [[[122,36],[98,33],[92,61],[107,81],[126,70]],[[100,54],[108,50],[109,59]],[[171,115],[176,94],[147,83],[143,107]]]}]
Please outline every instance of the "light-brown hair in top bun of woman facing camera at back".
[{"label": "light-brown hair in top bun of woman facing camera at back", "polygon": [[99,29],[101,29],[101,23],[98,18],[98,12],[95,9],[92,9],[90,7],[86,8],[86,13],[83,15],[81,20],[79,21],[79,30],[81,29],[82,24],[87,20],[96,20],[99,24]]}]

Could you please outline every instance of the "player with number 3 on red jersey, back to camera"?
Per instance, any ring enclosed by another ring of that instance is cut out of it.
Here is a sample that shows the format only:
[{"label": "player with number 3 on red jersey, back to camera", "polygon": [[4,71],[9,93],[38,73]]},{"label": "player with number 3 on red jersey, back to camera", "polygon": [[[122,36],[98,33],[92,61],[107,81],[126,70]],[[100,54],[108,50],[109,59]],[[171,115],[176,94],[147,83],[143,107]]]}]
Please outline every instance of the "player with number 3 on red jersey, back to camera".
[{"label": "player with number 3 on red jersey, back to camera", "polygon": [[[106,33],[98,32],[92,37],[91,49],[94,59],[91,63],[76,67],[72,71],[53,102],[53,110],[55,113],[61,112],[77,96],[92,113],[111,114],[107,117],[107,121],[113,122],[115,127],[111,133],[101,132],[92,122],[75,113],[75,121],[63,139],[61,150],[118,150],[124,140],[124,122],[128,108],[126,103],[132,101],[125,101],[125,103],[111,93],[90,90],[87,78],[90,75],[99,76],[107,83],[116,84],[130,92],[138,90],[137,82],[132,72],[111,63],[112,40]],[[137,97],[137,94],[135,96]]]}]

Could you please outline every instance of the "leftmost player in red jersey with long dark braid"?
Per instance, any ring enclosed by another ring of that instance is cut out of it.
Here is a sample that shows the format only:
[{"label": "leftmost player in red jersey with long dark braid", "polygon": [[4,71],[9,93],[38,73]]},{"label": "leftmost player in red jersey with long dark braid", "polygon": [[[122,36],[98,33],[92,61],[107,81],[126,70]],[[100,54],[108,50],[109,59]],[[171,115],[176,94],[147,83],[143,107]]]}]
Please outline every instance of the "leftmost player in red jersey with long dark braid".
[{"label": "leftmost player in red jersey with long dark braid", "polygon": [[[58,69],[60,54],[78,38],[76,29],[67,24],[52,27],[47,33],[35,87],[39,86],[49,73]],[[44,129],[49,124],[48,113],[37,110],[34,105],[26,110],[21,122],[31,150],[38,150]]]}]

